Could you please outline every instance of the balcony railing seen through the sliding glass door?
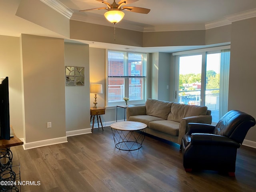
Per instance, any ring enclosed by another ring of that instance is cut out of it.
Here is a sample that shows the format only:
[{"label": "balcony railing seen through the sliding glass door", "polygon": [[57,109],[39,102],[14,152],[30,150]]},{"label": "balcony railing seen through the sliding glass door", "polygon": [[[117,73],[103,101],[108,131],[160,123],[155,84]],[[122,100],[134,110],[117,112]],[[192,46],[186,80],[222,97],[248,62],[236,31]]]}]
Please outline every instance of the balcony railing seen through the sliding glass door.
[{"label": "balcony railing seen through the sliding glass door", "polygon": [[[205,106],[208,107],[209,110],[215,111],[219,110],[219,89],[209,89],[206,90],[205,94]],[[200,96],[201,90],[190,90],[190,91],[179,91],[179,98],[178,102],[183,104],[190,104],[190,105],[200,105],[201,96]]]}]

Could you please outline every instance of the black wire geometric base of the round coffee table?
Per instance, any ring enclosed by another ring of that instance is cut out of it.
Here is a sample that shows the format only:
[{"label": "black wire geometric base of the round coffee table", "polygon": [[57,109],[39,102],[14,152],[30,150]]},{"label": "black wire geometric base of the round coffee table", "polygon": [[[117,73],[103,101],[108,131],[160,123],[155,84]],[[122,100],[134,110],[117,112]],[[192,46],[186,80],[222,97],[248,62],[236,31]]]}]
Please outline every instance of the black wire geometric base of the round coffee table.
[{"label": "black wire geometric base of the round coffee table", "polygon": [[133,151],[142,147],[146,128],[134,132],[132,130],[116,130],[111,128],[115,146],[119,150]]}]

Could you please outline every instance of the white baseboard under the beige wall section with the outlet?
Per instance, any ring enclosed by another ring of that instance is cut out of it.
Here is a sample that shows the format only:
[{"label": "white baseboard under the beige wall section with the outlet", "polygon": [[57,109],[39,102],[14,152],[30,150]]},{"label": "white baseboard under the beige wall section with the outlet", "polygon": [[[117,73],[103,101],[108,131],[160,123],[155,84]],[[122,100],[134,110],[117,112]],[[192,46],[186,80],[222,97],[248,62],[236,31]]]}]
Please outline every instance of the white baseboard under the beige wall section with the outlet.
[{"label": "white baseboard under the beige wall section with the outlet", "polygon": [[27,149],[48,146],[48,145],[54,145],[54,144],[59,144],[59,143],[66,143],[66,142],[68,142],[67,137],[59,137],[59,138],[46,139],[46,140],[28,142],[28,143],[24,142],[23,149],[27,150]]}]

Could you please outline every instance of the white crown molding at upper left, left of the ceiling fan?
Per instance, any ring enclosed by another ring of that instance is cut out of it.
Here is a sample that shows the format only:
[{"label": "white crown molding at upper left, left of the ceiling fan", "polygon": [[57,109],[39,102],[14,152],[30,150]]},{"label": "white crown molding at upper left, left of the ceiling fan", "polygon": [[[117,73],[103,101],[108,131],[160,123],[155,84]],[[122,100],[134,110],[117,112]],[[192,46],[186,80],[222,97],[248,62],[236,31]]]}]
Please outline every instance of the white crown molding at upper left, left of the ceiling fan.
[{"label": "white crown molding at upper left, left of the ceiling fan", "polygon": [[70,19],[72,17],[73,11],[66,7],[64,4],[59,2],[58,0],[40,0],[44,4],[48,5],[50,8],[56,10],[66,18]]}]

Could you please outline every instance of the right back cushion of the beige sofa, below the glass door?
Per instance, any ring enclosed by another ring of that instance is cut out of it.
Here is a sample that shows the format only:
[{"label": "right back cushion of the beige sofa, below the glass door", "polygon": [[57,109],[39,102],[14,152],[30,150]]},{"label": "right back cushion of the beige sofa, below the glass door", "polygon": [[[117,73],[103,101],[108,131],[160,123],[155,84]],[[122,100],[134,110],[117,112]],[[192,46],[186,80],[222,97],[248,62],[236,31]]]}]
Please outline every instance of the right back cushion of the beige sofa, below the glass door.
[{"label": "right back cushion of the beige sofa, below the glass door", "polygon": [[180,103],[173,103],[171,112],[168,115],[167,120],[180,122],[182,118],[206,115],[207,107],[206,106],[196,106],[196,105],[186,105]]}]

